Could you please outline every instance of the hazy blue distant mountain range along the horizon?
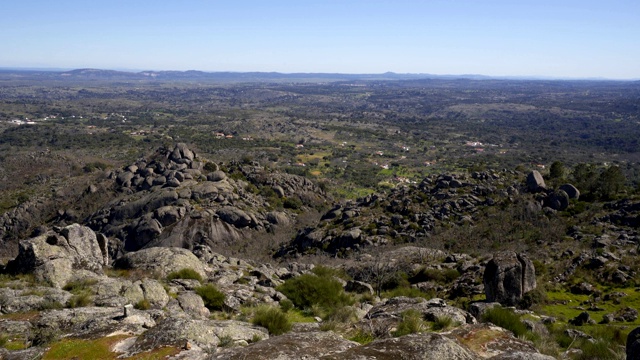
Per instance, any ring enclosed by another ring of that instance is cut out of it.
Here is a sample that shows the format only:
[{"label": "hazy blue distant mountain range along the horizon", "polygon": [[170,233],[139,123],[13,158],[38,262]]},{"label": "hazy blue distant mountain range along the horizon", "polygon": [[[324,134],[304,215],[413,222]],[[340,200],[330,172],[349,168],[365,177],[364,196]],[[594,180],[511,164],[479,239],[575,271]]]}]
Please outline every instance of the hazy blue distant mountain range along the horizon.
[{"label": "hazy blue distant mountain range along the horizon", "polygon": [[[340,73],[279,73],[279,72],[205,72],[189,71],[117,71],[102,69],[18,69],[0,68],[0,80],[50,80],[50,81],[189,81],[189,82],[332,82],[357,80],[417,80],[417,79],[467,79],[467,80],[578,80],[551,77],[485,76],[475,74],[340,74]],[[590,78],[580,80],[606,80]]]}]

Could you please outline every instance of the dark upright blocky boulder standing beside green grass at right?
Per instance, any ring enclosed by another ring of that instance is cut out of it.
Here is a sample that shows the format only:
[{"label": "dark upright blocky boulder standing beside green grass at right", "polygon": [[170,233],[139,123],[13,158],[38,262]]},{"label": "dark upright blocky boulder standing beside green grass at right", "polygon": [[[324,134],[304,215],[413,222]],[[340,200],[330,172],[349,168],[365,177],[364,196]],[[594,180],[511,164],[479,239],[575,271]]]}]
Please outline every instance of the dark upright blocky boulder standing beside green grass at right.
[{"label": "dark upright blocky boulder standing beside green grass at right", "polygon": [[526,255],[505,251],[487,263],[483,281],[488,302],[514,306],[526,292],[536,288],[536,272]]}]

